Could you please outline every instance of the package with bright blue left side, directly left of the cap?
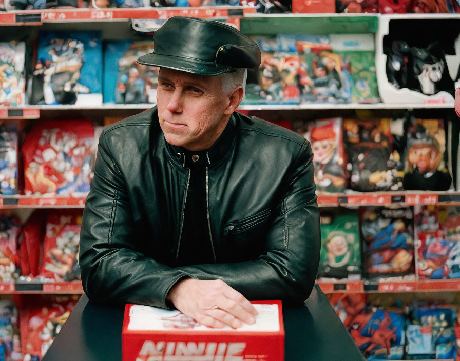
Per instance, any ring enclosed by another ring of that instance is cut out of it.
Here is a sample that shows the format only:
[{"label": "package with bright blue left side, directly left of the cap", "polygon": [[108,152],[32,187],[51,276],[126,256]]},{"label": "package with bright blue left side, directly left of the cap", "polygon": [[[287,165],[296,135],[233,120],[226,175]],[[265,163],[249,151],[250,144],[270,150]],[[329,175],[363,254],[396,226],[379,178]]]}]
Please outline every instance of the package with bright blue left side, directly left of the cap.
[{"label": "package with bright blue left side, directly left of the cap", "polygon": [[159,68],[146,67],[136,62],[139,56],[153,51],[151,41],[107,42],[104,51],[104,103],[157,102]]}]

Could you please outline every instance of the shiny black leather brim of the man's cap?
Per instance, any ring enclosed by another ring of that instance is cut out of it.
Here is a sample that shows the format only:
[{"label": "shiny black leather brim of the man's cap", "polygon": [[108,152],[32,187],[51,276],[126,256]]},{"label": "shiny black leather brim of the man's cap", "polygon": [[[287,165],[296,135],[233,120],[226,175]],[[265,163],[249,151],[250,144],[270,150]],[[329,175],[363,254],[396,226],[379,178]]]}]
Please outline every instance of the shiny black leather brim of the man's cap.
[{"label": "shiny black leather brim of the man's cap", "polygon": [[202,62],[196,59],[189,59],[180,56],[159,55],[159,54],[146,54],[137,59],[137,62],[142,65],[149,65],[154,67],[163,67],[186,71],[188,73],[200,75],[220,75],[223,73],[233,73],[235,68],[216,63]]}]

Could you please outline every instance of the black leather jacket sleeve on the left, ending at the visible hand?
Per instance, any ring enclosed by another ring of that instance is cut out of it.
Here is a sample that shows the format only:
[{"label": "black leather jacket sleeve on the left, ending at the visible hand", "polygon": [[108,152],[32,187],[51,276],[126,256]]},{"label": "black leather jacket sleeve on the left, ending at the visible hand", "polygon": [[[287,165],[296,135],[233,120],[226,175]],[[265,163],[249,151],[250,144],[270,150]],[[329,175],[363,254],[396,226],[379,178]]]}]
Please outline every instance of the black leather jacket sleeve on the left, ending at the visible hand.
[{"label": "black leather jacket sleeve on the left, ending at the visible hand", "polygon": [[83,289],[94,301],[166,308],[170,287],[188,275],[137,252],[135,238],[125,181],[102,133],[80,235]]}]

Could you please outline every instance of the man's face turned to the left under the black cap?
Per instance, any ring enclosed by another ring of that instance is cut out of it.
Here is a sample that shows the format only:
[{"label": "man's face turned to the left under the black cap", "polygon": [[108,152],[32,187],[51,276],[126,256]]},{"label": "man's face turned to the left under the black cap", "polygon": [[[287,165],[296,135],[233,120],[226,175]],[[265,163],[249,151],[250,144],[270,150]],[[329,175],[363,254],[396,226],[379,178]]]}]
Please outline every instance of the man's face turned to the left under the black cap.
[{"label": "man's face turned to the left under the black cap", "polygon": [[166,142],[188,150],[214,144],[227,124],[230,100],[221,76],[203,76],[161,68],[157,90],[158,119]]}]

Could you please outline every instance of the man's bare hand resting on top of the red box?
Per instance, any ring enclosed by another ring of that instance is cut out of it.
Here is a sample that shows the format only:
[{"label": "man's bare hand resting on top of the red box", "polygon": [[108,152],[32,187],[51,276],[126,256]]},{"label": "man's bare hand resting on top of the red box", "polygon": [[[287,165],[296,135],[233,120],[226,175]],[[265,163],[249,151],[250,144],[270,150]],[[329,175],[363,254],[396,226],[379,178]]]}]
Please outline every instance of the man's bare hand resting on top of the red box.
[{"label": "man's bare hand resting on top of the red box", "polygon": [[183,314],[204,326],[233,328],[253,325],[257,310],[238,291],[221,280],[187,278],[174,285],[167,299]]}]

